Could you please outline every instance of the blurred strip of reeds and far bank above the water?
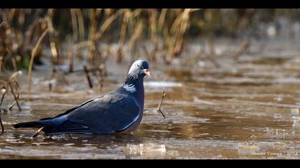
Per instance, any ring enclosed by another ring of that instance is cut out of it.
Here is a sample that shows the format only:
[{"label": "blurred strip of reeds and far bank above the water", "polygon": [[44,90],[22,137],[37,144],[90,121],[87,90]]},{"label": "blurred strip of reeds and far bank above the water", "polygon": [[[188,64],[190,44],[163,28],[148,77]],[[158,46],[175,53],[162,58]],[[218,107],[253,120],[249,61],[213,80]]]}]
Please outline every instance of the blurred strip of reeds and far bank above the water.
[{"label": "blurred strip of reeds and far bank above the water", "polygon": [[[53,65],[84,58],[93,65],[144,57],[169,64],[189,41],[299,38],[299,9],[1,9],[1,62],[28,69],[42,57]],[[42,36],[44,34],[44,36]],[[238,47],[238,46],[237,46]],[[86,53],[82,53],[82,52]]]}]

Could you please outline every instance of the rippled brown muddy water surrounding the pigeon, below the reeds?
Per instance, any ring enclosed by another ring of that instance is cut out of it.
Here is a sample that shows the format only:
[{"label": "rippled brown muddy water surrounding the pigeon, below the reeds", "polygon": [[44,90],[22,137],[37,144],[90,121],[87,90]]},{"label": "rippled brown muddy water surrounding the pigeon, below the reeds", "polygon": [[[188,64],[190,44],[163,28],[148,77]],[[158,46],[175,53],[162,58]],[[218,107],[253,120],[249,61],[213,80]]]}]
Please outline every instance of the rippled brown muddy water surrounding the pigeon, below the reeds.
[{"label": "rippled brown muddy water surrounding the pigeon, below the reeds", "polygon": [[[128,69],[125,63],[110,61],[109,77],[100,91],[88,89],[83,73],[66,75],[64,82],[59,74],[49,80],[50,66],[37,67],[31,93],[21,95],[23,110],[1,113],[6,130],[0,136],[0,158],[300,159],[300,51],[293,45],[269,42],[261,51],[261,43],[254,43],[237,62],[216,56],[221,68],[206,60],[193,61],[193,56],[175,59],[172,65],[152,64],[153,75],[144,83],[144,118],[131,135],[31,138],[36,130],[15,130],[11,124],[51,117],[114,90]],[[226,43],[216,44],[216,53],[224,46],[228,48]],[[26,90],[25,78],[19,81]],[[162,90],[166,119],[155,110]],[[7,98],[4,107],[10,103]]]}]

